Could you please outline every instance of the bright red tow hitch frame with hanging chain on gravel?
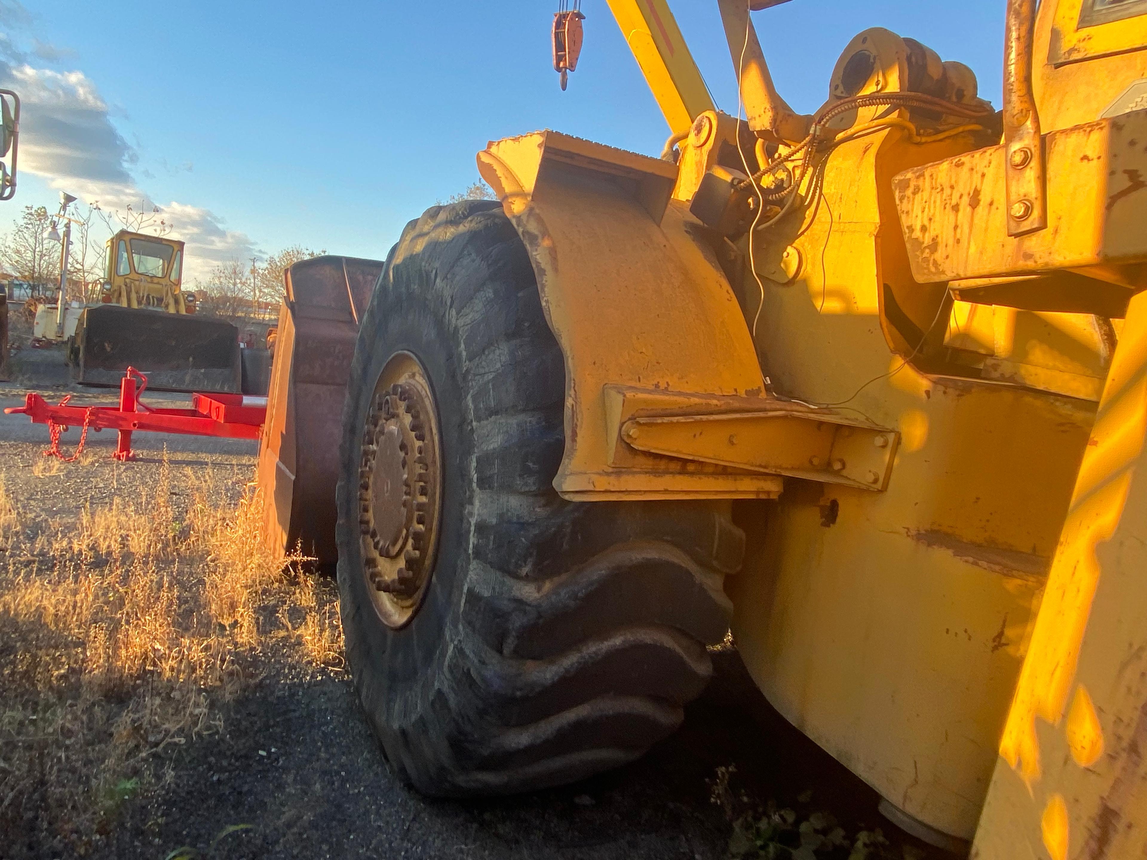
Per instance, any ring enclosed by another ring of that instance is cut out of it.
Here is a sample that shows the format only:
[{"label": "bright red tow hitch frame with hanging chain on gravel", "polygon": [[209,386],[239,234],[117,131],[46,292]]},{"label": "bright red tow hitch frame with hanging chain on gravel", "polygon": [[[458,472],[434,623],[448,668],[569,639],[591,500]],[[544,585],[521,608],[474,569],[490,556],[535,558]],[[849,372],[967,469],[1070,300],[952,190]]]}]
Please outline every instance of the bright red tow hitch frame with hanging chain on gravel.
[{"label": "bright red tow hitch frame with hanging chain on gravel", "polygon": [[[136,386],[136,382],[140,384]],[[119,444],[112,456],[128,460],[132,456],[132,432],[145,430],[158,433],[189,436],[218,436],[234,439],[258,439],[267,414],[267,398],[243,394],[192,394],[190,409],[155,409],[140,400],[147,389],[147,377],[128,367],[119,381],[119,406],[69,406],[71,394],[53,406],[34,392],[29,392],[23,406],[5,409],[23,414],[33,423],[47,424],[52,447],[45,456],[57,456],[64,462],[76,460],[84,451],[88,430],[118,430]],[[64,456],[60,451],[60,433],[69,427],[81,427],[76,453]]]}]

